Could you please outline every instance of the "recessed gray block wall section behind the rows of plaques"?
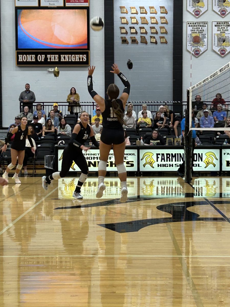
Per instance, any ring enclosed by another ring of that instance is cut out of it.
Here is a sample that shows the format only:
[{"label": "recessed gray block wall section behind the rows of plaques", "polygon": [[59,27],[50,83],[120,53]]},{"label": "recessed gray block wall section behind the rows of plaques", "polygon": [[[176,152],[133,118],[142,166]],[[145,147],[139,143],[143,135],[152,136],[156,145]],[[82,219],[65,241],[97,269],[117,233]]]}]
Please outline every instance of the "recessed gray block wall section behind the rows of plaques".
[{"label": "recessed gray block wall section behind the rows of plaques", "polygon": [[[128,10],[128,14],[121,14],[120,6],[125,6]],[[138,15],[131,14],[130,6],[135,6],[138,10]],[[148,14],[140,14],[139,6],[144,6]],[[150,14],[149,6],[154,6],[157,10],[157,14]],[[160,14],[159,6],[165,6],[168,14]],[[162,101],[172,100],[172,32],[173,32],[173,1],[172,0],[155,0],[155,1],[135,1],[135,0],[114,0],[114,57],[115,63],[119,65],[119,68],[124,72],[125,76],[130,80],[131,84],[131,101]],[[128,20],[128,25],[121,24],[121,16],[125,16]],[[131,24],[131,16],[136,16],[139,21],[138,25]],[[146,17],[148,25],[141,24],[140,16]],[[155,16],[158,25],[151,24],[150,16]],[[167,24],[160,23],[160,16],[165,16]],[[121,30],[120,26],[125,26],[128,31],[128,35],[124,35],[128,38],[129,44],[121,44]],[[138,34],[130,34],[129,26],[135,26]],[[140,43],[140,28],[144,26],[148,34],[145,35],[148,41],[148,45]],[[158,34],[151,34],[150,26],[155,26],[158,30]],[[165,26],[168,34],[167,45],[160,44],[159,26]],[[158,44],[150,43],[150,35],[154,35],[157,38]],[[130,36],[136,36],[139,44],[131,44]],[[133,69],[130,72],[126,66],[128,59],[133,62]],[[115,78],[117,85],[121,84],[121,81]],[[119,86],[120,90],[123,89]]]}]

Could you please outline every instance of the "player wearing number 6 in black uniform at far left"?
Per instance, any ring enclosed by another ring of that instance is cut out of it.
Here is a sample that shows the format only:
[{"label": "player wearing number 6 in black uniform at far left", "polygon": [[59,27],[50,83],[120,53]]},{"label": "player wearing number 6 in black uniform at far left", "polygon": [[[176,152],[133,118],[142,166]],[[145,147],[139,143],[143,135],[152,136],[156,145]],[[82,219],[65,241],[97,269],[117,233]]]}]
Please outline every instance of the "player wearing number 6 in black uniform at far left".
[{"label": "player wearing number 6 in black uniform at far left", "polygon": [[30,130],[28,130],[27,126],[28,120],[25,116],[22,116],[20,122],[21,124],[17,127],[14,127],[13,130],[8,134],[5,140],[5,145],[2,147],[2,151],[6,151],[7,148],[6,144],[10,142],[10,138],[13,136],[13,134],[15,134],[15,137],[13,139],[10,148],[11,163],[7,166],[5,173],[2,175],[2,178],[8,181],[8,174],[10,170],[13,169],[17,163],[15,174],[13,175],[12,178],[15,180],[15,183],[21,183],[21,181],[18,179],[18,174],[22,169],[23,160],[25,156],[26,137],[28,137],[32,152],[35,153],[35,148],[33,146],[33,142],[30,136]]}]

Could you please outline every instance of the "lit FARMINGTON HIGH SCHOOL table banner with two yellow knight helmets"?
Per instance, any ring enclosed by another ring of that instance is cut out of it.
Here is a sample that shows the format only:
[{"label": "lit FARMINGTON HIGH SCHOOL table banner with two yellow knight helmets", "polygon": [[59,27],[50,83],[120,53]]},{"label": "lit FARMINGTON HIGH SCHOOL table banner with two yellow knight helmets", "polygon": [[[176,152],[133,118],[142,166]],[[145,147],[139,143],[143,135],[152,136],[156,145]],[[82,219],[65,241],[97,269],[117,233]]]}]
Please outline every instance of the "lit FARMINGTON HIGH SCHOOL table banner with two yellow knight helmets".
[{"label": "lit FARMINGTON HIGH SCHOOL table banner with two yellow knight helmets", "polygon": [[[184,161],[183,149],[140,149],[140,172],[176,172]],[[220,150],[194,150],[194,171],[219,171]]]}]

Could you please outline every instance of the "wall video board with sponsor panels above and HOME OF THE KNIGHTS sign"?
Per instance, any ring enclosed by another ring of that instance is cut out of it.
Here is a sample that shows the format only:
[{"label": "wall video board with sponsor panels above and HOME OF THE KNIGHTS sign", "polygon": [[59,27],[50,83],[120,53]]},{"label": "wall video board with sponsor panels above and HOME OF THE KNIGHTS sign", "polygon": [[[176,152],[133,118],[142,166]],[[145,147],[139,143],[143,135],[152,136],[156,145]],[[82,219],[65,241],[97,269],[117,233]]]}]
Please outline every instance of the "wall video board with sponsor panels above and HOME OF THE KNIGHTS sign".
[{"label": "wall video board with sponsor panels above and HOME OF THE KNIGHTS sign", "polygon": [[90,64],[88,0],[15,0],[16,65]]}]

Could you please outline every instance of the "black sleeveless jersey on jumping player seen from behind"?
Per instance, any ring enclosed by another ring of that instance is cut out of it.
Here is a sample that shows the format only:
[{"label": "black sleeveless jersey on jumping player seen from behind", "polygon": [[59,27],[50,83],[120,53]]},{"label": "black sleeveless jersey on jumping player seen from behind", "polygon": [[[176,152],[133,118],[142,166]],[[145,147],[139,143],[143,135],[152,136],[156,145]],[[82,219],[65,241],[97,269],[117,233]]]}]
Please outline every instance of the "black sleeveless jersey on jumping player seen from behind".
[{"label": "black sleeveless jersey on jumping player seen from behind", "polygon": [[[123,115],[124,115],[124,107],[121,99],[116,99],[119,104]],[[118,121],[117,115],[113,113],[112,108],[112,100],[105,100],[105,111],[102,112],[102,126],[107,129],[122,129],[121,123]]]}]

